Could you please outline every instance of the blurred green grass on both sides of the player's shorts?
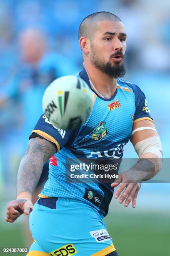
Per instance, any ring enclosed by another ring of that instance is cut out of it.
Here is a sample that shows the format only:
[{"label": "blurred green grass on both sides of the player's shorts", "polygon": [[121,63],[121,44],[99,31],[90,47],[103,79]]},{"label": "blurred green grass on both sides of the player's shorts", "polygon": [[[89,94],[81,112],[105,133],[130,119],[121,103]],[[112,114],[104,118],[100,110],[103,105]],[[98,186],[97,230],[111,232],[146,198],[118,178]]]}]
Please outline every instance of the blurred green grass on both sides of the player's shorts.
[{"label": "blurred green grass on both sides of the player's shorts", "polygon": [[[106,218],[107,230],[119,256],[169,255],[170,217],[158,213],[111,212]],[[1,223],[0,247],[25,247],[21,224]],[[24,253],[1,253],[22,256]]]}]

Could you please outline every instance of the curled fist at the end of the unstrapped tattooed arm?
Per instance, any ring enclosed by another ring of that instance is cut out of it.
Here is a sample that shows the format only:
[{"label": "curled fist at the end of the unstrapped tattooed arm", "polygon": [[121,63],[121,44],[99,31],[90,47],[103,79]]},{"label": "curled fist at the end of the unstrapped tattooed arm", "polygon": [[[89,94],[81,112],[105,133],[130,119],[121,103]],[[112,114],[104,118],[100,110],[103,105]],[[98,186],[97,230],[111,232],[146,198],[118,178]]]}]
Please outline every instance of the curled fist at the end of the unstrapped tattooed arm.
[{"label": "curled fist at the end of the unstrapped tattooed arm", "polygon": [[21,214],[29,215],[32,212],[33,204],[31,200],[18,199],[7,203],[5,220],[14,222]]}]

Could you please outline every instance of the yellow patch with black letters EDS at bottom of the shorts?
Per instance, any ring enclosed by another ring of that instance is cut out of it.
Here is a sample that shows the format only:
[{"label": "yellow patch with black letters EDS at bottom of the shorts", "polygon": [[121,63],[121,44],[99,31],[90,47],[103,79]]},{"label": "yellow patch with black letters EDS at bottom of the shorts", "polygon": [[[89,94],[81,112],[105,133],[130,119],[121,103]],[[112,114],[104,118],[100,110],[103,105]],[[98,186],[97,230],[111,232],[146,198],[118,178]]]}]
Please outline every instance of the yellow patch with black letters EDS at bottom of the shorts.
[{"label": "yellow patch with black letters EDS at bottom of the shorts", "polygon": [[75,246],[70,243],[70,244],[66,244],[65,246],[62,246],[52,252],[50,252],[49,254],[51,256],[70,256],[70,255],[74,255],[77,253],[77,250],[75,248]]}]

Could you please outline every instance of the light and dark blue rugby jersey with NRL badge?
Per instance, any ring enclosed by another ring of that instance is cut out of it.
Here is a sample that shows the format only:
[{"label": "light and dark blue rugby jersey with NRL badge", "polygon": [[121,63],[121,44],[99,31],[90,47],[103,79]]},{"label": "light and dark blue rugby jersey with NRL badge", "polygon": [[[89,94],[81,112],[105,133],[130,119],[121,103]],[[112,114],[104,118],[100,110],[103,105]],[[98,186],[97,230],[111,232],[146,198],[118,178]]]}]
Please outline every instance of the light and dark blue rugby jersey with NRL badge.
[{"label": "light and dark blue rugby jersey with NRL badge", "polygon": [[[90,87],[85,69],[78,77],[84,79]],[[130,139],[133,123],[152,119],[145,95],[135,84],[117,79],[117,89],[110,99],[100,97],[93,90],[92,94],[95,100],[92,113],[80,128],[63,131],[51,125],[46,116],[42,115],[32,134],[39,133],[42,137],[45,135],[57,147],[57,153],[50,159],[49,179],[41,197],[76,200],[94,207],[105,216],[113,188],[104,183],[67,183],[65,159],[121,159],[123,148]],[[94,198],[98,198],[98,202]]]}]

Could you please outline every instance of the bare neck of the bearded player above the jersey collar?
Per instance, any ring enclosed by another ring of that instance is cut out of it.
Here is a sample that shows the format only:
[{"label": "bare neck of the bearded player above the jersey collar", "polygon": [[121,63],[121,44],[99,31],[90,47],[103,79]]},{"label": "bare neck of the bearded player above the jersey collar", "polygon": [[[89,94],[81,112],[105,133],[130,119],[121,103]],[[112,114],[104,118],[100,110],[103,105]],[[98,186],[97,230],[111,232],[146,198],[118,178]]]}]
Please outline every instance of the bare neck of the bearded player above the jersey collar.
[{"label": "bare neck of the bearded player above the jersey collar", "polygon": [[83,64],[95,90],[104,98],[111,98],[117,87],[117,78],[109,77],[91,63],[84,62]]}]

